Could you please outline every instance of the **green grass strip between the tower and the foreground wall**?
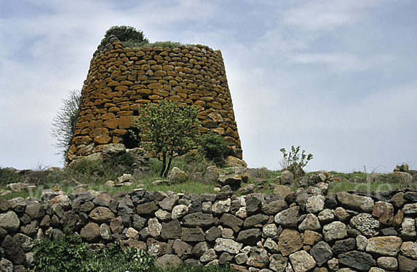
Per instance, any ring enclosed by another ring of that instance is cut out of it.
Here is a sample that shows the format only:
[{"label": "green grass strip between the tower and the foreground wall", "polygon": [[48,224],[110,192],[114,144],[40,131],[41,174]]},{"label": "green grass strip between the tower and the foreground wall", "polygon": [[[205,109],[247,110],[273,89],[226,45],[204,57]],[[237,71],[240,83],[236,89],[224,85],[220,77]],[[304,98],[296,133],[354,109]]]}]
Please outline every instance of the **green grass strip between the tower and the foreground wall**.
[{"label": "green grass strip between the tower and the foreground wall", "polygon": [[[115,180],[124,173],[133,174],[133,167],[131,166],[133,160],[129,156],[116,157],[110,161],[81,161],[76,165],[63,168],[61,170],[47,170],[45,167],[38,166],[32,173],[27,175],[19,175],[6,168],[0,168],[0,189],[6,189],[6,184],[10,182],[24,182],[36,184],[37,189],[33,192],[13,192],[8,195],[3,195],[1,198],[12,199],[17,197],[40,198],[44,189],[52,189],[56,184],[60,186],[62,191],[71,194],[74,187],[70,186],[67,181],[76,180],[81,184],[86,185],[86,190],[94,191],[108,191],[114,194],[117,191],[133,191],[133,189],[145,189],[148,191],[174,191],[174,193],[215,193],[214,188],[217,184],[205,184],[193,180],[195,173],[201,173],[204,177],[206,168],[214,165],[213,161],[207,161],[204,156],[197,153],[190,153],[186,156],[175,158],[172,161],[170,170],[173,167],[178,167],[188,174],[188,179],[183,182],[168,182],[167,184],[154,185],[156,180],[167,180],[159,177],[162,163],[158,159],[149,159],[149,173],[144,176],[135,177],[136,182],[130,186],[118,186],[105,188],[104,183],[108,180]],[[221,173],[233,173],[231,168],[219,168]],[[329,192],[334,193],[338,191],[350,190],[366,190],[366,191],[387,191],[391,189],[403,189],[406,187],[417,188],[417,182],[405,183],[397,176],[390,174],[383,174],[377,176],[377,182],[370,182],[371,175],[365,172],[353,173],[338,173],[330,171],[335,179],[335,182],[329,184]],[[258,193],[273,193],[273,186],[270,184],[277,184],[277,177],[281,175],[280,171],[267,170],[266,168],[257,173],[258,177],[266,180],[265,184],[256,185],[256,192]],[[306,173],[307,177],[311,177],[313,172]],[[254,177],[251,177],[246,184],[254,184]],[[291,190],[295,191],[299,185],[294,182]],[[240,195],[240,193],[238,193]]]}]

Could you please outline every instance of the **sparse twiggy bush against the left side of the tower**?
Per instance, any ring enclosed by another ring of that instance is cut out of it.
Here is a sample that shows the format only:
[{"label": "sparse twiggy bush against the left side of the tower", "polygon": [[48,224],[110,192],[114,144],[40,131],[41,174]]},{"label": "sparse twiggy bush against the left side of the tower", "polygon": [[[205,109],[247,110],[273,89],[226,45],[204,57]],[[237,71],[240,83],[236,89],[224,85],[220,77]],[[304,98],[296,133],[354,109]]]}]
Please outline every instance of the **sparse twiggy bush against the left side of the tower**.
[{"label": "sparse twiggy bush against the left side of the tower", "polygon": [[81,92],[72,90],[68,97],[62,101],[63,106],[52,121],[51,135],[56,139],[55,146],[63,153],[64,161],[67,161],[67,153],[70,150],[76,121],[80,114]]}]

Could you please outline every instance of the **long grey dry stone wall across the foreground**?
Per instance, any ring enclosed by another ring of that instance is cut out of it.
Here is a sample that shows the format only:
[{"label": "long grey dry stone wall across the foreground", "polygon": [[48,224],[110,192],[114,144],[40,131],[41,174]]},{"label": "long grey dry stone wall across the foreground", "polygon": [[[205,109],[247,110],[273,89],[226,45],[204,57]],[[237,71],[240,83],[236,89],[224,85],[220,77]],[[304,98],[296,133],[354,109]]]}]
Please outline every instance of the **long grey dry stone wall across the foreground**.
[{"label": "long grey dry stone wall across the foreground", "polygon": [[[137,190],[0,200],[0,271],[24,271],[34,239],[71,227],[91,248],[121,240],[159,265],[229,262],[237,271],[417,269],[416,191],[324,196],[325,184],[286,195]],[[3,270],[1,270],[3,269]],[[19,270],[21,269],[21,270]],[[13,271],[13,270],[10,270]]]}]

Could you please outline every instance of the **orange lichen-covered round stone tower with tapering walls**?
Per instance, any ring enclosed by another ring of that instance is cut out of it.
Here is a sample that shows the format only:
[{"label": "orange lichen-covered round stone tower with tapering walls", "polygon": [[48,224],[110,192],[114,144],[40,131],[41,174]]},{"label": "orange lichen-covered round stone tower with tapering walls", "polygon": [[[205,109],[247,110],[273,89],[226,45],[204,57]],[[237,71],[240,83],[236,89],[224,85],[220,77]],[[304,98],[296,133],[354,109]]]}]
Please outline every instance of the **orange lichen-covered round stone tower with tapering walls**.
[{"label": "orange lichen-covered round stone tower with tapering walls", "polygon": [[97,51],[81,91],[81,113],[70,161],[129,143],[138,107],[170,99],[197,106],[202,133],[214,131],[242,159],[233,104],[220,51],[203,46],[126,48],[117,38]]}]

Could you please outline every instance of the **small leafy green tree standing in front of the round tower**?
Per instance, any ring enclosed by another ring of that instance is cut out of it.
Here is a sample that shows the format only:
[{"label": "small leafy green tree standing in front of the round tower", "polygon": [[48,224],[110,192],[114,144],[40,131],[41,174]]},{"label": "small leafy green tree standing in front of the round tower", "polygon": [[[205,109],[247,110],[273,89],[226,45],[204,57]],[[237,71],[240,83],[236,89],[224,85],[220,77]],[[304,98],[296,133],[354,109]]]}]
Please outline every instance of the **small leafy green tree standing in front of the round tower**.
[{"label": "small leafy green tree standing in front of the round tower", "polygon": [[178,106],[163,99],[158,104],[142,106],[138,118],[133,120],[138,134],[131,134],[147,152],[162,161],[161,177],[167,177],[172,158],[197,147],[198,113],[195,106]]}]

